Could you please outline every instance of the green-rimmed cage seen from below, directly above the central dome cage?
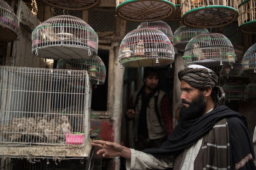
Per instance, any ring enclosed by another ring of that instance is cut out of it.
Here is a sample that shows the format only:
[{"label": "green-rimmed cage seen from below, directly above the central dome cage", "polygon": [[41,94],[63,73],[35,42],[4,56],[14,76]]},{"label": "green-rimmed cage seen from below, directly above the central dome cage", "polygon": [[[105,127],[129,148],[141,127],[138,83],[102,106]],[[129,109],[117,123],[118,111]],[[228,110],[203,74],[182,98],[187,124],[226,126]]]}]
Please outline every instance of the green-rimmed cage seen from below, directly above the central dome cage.
[{"label": "green-rimmed cage seen from below, directly above the central dome cage", "polygon": [[115,13],[129,21],[156,21],[176,9],[175,0],[116,0]]}]

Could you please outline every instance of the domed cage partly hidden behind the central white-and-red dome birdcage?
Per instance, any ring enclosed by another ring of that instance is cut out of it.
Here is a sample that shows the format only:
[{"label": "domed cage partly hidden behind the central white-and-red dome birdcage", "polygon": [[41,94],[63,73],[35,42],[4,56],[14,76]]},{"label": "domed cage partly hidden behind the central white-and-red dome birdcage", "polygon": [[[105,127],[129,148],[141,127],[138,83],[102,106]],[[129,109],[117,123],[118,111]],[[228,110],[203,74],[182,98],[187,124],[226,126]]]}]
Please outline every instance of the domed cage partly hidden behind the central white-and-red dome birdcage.
[{"label": "domed cage partly hidden behind the central white-and-red dome birdcage", "polygon": [[149,22],[142,22],[137,29],[140,28],[155,28],[160,31],[162,31],[168,39],[173,43],[173,32],[171,27],[164,21],[159,20],[159,21],[149,21]]}]

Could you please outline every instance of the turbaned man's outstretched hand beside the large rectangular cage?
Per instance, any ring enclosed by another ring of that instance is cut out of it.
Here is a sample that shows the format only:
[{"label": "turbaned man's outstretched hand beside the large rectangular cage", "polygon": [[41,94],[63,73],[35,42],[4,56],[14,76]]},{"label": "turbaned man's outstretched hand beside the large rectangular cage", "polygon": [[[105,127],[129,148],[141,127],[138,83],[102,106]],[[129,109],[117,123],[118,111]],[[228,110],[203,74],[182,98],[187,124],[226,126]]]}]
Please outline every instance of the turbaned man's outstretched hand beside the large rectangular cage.
[{"label": "turbaned man's outstretched hand beside the large rectangular cage", "polygon": [[101,148],[97,151],[97,154],[102,154],[102,157],[104,158],[121,156],[126,159],[131,159],[131,150],[118,143],[103,140],[93,140],[91,145]]}]

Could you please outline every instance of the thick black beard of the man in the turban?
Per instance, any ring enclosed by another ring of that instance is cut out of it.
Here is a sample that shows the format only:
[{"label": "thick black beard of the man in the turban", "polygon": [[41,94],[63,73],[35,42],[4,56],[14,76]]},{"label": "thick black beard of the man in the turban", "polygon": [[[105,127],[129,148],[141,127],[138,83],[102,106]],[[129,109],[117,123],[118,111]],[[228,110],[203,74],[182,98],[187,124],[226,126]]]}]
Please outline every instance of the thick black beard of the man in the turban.
[{"label": "thick black beard of the man in the turban", "polygon": [[179,118],[180,122],[194,120],[202,116],[206,107],[206,101],[202,92],[192,102],[182,100],[182,103],[189,104],[188,107],[182,106]]}]

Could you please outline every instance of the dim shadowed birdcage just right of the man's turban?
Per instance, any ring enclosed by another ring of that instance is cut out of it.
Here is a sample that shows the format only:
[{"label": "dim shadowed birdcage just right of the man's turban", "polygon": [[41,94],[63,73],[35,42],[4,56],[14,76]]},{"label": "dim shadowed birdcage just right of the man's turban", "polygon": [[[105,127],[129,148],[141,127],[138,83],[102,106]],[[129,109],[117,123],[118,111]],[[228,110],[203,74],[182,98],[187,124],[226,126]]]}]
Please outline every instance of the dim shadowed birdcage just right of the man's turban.
[{"label": "dim shadowed birdcage just right of the man's turban", "polygon": [[246,85],[240,82],[226,83],[223,85],[226,100],[244,100]]}]

